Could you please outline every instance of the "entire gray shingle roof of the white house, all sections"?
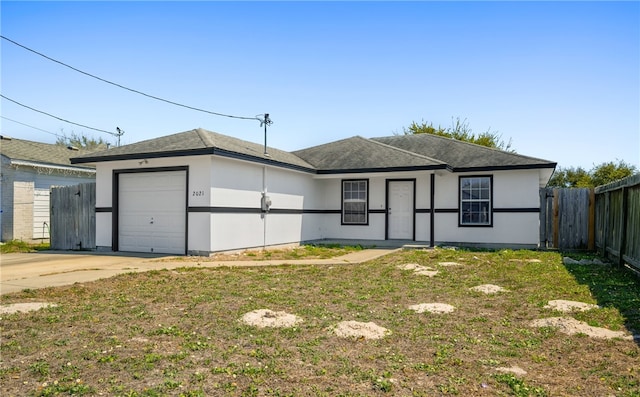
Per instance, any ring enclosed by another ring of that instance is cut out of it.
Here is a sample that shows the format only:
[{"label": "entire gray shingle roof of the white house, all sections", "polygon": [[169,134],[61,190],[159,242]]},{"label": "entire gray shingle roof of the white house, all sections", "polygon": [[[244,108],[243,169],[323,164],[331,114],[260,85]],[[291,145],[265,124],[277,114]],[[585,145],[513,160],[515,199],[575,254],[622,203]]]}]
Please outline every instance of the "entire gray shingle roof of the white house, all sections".
[{"label": "entire gray shingle roof of the white house, all sections", "polygon": [[430,134],[360,136],[286,152],[204,129],[194,129],[77,156],[73,164],[129,159],[220,155],[318,174],[448,169],[554,168],[556,163]]}]

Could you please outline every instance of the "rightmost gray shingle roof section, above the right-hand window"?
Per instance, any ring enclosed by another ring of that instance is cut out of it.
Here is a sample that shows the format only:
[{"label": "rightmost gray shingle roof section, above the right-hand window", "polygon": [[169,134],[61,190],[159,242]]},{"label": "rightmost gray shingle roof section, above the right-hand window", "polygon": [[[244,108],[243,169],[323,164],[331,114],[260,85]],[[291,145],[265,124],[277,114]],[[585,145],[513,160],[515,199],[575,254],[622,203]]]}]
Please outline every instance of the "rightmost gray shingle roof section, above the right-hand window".
[{"label": "rightmost gray shingle roof section, above the right-hand window", "polygon": [[454,170],[481,168],[554,168],[556,163],[432,134],[372,138],[400,149],[436,158]]}]

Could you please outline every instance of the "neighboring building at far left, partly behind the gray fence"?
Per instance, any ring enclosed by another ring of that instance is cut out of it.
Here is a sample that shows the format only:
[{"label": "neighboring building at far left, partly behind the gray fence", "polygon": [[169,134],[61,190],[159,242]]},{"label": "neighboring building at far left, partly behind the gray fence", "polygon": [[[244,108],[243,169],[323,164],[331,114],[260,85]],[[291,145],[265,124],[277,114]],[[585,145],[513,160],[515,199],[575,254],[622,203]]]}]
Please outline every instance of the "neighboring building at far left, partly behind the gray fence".
[{"label": "neighboring building at far left, partly behind the gray fence", "polygon": [[49,190],[52,186],[95,182],[95,168],[72,165],[87,151],[0,136],[0,238],[49,238]]}]

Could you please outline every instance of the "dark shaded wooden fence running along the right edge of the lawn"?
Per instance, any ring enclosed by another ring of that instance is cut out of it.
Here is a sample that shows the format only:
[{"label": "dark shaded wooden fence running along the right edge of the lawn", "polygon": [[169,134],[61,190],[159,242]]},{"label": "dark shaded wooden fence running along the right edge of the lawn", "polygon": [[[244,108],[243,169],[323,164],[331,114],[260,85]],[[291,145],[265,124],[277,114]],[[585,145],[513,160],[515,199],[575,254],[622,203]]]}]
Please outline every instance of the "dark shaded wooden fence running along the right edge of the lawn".
[{"label": "dark shaded wooden fence running along the right edge of the lawn", "polygon": [[640,271],[640,174],[595,189],[596,246]]}]

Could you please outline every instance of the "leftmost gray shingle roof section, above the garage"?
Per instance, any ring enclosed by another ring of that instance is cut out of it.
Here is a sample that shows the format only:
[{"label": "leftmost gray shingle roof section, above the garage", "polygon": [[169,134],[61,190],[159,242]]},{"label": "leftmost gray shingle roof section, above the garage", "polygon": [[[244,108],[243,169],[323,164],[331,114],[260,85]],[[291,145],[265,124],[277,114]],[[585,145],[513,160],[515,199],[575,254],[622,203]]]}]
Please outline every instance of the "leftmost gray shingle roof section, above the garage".
[{"label": "leftmost gray shingle roof section, above the garage", "polygon": [[78,156],[72,161],[74,163],[93,163],[151,157],[221,154],[259,160],[261,162],[282,163],[309,170],[313,169],[312,165],[292,153],[271,147],[267,149],[267,152],[269,155],[265,156],[264,145],[198,128],[90,155]]}]

